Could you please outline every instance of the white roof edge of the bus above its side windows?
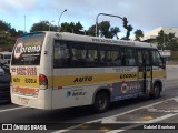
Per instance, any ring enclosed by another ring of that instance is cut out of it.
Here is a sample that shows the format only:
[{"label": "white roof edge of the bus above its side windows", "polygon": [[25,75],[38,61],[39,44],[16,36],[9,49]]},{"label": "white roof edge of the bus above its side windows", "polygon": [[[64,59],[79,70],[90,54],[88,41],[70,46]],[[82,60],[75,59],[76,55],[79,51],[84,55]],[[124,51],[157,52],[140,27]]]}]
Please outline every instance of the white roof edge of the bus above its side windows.
[{"label": "white roof edge of the bus above its side windows", "polygon": [[139,47],[139,48],[152,48],[157,49],[155,44],[138,41],[126,41],[126,40],[113,40],[106,38],[97,38],[90,35],[81,35],[68,32],[51,32],[44,31],[51,38],[60,38],[68,41],[79,41],[79,42],[90,42],[90,43],[102,43],[102,44],[113,44],[113,45],[125,45],[125,47]]}]

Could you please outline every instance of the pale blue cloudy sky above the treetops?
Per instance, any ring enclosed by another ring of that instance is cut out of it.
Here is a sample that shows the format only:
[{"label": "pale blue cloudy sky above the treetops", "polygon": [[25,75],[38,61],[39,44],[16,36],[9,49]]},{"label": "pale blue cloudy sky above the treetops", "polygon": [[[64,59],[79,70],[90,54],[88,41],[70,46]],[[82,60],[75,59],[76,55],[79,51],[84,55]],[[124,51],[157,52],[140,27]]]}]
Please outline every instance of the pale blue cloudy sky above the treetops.
[{"label": "pale blue cloudy sky above the treetops", "polygon": [[[61,13],[60,23],[80,21],[83,30],[96,23],[99,13],[126,17],[134,31],[178,27],[178,0],[0,0],[0,20],[27,32],[40,21],[58,25]],[[111,27],[122,31],[118,18],[99,16],[101,21],[110,21]]]}]

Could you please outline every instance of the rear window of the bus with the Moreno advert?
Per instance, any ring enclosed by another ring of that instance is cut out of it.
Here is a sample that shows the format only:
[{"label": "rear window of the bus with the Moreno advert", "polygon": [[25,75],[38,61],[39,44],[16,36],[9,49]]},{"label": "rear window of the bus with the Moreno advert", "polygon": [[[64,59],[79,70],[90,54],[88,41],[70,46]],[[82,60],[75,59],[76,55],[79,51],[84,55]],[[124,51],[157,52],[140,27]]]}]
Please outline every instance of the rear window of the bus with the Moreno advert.
[{"label": "rear window of the bus with the Moreno advert", "polygon": [[19,38],[12,53],[12,65],[39,65],[43,32],[24,34]]}]

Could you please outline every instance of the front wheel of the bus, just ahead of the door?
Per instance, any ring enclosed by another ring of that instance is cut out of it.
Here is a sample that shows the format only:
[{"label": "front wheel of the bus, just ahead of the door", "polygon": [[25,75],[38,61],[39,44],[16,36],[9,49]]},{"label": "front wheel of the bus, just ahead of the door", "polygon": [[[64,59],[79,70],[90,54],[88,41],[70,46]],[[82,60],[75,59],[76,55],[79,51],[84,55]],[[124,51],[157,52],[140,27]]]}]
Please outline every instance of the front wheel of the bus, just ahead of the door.
[{"label": "front wheel of the bus, just ahead of the door", "polygon": [[158,99],[160,96],[161,85],[160,83],[156,83],[154,85],[152,93],[149,94],[151,99]]}]

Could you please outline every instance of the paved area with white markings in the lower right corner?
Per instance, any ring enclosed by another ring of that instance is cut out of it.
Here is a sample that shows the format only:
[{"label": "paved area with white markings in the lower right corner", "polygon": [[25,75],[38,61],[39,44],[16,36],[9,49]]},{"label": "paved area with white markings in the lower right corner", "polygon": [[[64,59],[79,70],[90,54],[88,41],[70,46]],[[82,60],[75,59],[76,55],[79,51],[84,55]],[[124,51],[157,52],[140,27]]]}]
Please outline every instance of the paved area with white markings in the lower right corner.
[{"label": "paved area with white markings in the lower right corner", "polygon": [[178,98],[156,102],[53,133],[119,133],[128,131],[157,133],[159,130],[178,132]]}]

